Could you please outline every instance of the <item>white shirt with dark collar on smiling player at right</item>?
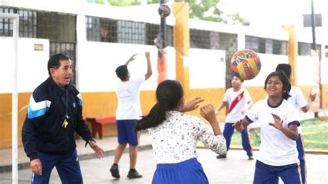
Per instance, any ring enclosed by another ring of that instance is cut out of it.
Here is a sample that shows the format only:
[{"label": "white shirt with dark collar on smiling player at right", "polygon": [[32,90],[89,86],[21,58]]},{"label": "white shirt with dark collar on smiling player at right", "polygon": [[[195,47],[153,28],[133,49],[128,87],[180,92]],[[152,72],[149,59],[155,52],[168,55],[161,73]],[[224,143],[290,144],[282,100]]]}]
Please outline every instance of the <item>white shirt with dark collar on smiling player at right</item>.
[{"label": "white shirt with dark collar on smiling player at right", "polygon": [[268,104],[268,99],[256,102],[246,113],[248,122],[258,120],[261,128],[261,144],[259,145],[259,156],[257,159],[262,163],[273,166],[289,165],[298,163],[298,150],[296,141],[288,138],[282,131],[275,129],[269,122],[274,122],[271,113],[279,116],[284,127],[295,124],[300,125],[295,107],[286,100],[273,107]]}]

